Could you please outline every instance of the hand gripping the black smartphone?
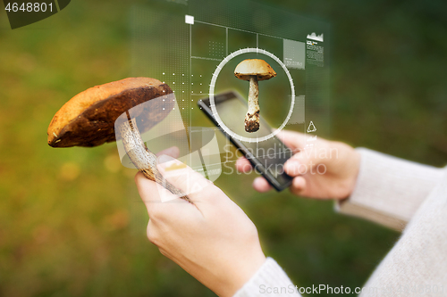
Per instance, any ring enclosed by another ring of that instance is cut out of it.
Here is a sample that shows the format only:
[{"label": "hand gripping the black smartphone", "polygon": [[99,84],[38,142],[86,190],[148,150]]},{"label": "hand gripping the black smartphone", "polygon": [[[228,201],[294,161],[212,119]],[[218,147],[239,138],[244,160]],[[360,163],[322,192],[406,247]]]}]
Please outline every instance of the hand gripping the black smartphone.
[{"label": "hand gripping the black smartphone", "polygon": [[[318,138],[305,150],[306,135],[281,131],[277,136],[295,153],[284,164],[285,173],[293,177],[291,193],[317,199],[343,199],[352,193],[360,156],[350,145]],[[250,167],[244,157],[236,162],[240,172]],[[272,189],[264,177],[255,178],[253,187],[258,192]]]}]

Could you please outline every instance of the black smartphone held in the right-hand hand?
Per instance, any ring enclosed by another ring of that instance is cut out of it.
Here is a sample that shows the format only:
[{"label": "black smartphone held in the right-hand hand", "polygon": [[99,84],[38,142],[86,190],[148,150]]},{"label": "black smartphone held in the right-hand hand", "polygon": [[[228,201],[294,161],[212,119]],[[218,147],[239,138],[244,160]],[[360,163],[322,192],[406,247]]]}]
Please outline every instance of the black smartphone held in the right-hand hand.
[{"label": "black smartphone held in the right-hand hand", "polygon": [[[220,128],[223,134],[244,154],[253,168],[257,169],[276,191],[283,191],[283,189],[291,186],[292,177],[288,176],[283,170],[285,161],[293,154],[291,149],[285,146],[276,136],[268,137],[263,141],[256,141],[257,138],[263,138],[272,134],[272,128],[266,123],[266,120],[260,117],[259,130],[255,133],[248,133],[244,128],[245,114],[248,110],[247,101],[235,91],[215,95],[214,98],[215,109],[224,125],[234,135],[248,137],[253,140],[241,141],[237,138],[242,137],[233,137],[225,132],[223,128]],[[198,106],[217,127],[220,126],[213,116],[213,111],[211,111],[209,98],[199,100]]]}]

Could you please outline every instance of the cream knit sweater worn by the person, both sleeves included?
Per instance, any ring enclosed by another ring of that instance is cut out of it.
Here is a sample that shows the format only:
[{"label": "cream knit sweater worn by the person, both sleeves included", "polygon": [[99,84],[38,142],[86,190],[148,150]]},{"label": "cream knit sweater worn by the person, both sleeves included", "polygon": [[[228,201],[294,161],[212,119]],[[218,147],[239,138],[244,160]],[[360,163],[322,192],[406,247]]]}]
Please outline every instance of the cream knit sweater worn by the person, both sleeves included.
[{"label": "cream knit sweater worn by the person, both sleeves included", "polygon": [[[337,203],[337,210],[405,228],[360,295],[447,296],[447,168],[357,150],[358,181],[350,198]],[[269,258],[234,296],[299,296],[293,287]]]}]

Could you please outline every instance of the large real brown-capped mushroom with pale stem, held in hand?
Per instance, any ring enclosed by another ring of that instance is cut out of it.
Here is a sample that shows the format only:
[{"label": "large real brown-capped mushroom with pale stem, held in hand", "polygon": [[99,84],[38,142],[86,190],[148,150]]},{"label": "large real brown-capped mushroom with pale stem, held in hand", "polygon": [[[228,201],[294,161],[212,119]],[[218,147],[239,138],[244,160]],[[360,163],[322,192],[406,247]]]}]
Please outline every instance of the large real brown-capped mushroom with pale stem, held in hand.
[{"label": "large real brown-capped mushroom with pale stem, held in hand", "polygon": [[[131,162],[150,180],[164,186],[171,193],[190,202],[169,184],[156,169],[156,155],[148,150],[136,127],[135,112],[130,110],[149,100],[170,95],[173,90],[155,78],[124,78],[105,85],[90,87],[72,97],[55,113],[47,130],[48,144],[52,147],[97,146],[116,141],[115,120],[126,113],[126,120],[119,124],[122,144]],[[141,126],[148,130],[173,110],[173,101],[166,100],[151,105]],[[138,109],[137,109],[138,110]],[[133,110],[132,110],[133,111]]]}]

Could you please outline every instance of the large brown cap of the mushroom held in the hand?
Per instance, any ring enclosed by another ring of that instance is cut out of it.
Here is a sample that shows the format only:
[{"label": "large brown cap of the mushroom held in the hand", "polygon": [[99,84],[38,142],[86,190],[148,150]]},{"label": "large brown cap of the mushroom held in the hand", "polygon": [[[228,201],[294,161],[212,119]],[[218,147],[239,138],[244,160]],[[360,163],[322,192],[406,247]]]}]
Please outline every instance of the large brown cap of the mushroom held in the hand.
[{"label": "large brown cap of the mushroom held in the hand", "polygon": [[[114,122],[123,112],[171,93],[173,90],[168,85],[155,78],[124,78],[90,87],[72,97],[55,113],[47,130],[48,144],[70,147],[113,142],[116,140]],[[150,111],[141,109],[140,112],[145,112],[141,127],[144,130],[154,127],[172,109],[172,100],[151,104]]]}]

